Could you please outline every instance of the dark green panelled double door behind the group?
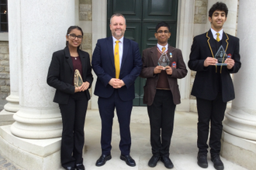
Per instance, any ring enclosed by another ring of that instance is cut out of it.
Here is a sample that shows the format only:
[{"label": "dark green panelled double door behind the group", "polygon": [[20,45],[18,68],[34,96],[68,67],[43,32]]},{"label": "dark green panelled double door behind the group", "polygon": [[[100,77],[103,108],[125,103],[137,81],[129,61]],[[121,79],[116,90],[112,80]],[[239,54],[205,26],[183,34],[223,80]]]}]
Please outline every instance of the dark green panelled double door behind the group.
[{"label": "dark green panelled double door behind the group", "polygon": [[[111,36],[109,22],[112,14],[121,13],[126,18],[126,39],[138,42],[140,53],[157,44],[154,37],[158,22],[167,22],[171,27],[168,43],[175,46],[177,32],[178,0],[108,0],[107,36]],[[143,106],[146,79],[138,77],[135,82],[133,106]]]}]

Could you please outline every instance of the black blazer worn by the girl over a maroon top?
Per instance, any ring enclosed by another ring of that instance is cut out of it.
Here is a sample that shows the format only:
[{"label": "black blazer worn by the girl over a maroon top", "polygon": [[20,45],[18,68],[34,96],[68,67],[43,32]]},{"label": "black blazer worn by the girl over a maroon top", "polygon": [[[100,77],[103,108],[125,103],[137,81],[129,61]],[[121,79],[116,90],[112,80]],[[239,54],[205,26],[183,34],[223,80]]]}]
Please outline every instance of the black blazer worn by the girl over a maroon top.
[{"label": "black blazer worn by the girl over a maroon top", "polygon": [[[78,49],[78,54],[81,59],[82,79],[88,81],[90,87],[92,85],[92,66],[90,64],[89,54],[81,49]],[[54,102],[58,104],[67,104],[71,94],[74,94],[74,70],[71,55],[68,47],[54,52],[50,62],[47,83],[50,87],[56,89]],[[89,88],[90,88],[89,87]],[[90,93],[85,90],[88,100],[90,100]]]}]

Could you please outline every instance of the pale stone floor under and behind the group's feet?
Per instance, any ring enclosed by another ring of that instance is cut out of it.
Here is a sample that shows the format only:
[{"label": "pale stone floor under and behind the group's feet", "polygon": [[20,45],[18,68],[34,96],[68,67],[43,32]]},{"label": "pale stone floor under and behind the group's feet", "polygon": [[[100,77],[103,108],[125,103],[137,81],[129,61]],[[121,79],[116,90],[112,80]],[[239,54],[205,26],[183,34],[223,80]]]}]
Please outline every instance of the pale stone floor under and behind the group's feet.
[{"label": "pale stone floor under and behind the group's feet", "polygon": [[[197,114],[187,112],[175,113],[175,128],[171,138],[170,158],[175,170],[197,170],[203,169],[197,165],[196,147],[196,124]],[[133,107],[131,116],[132,146],[130,155],[136,161],[135,167],[129,167],[119,159],[119,124],[117,117],[114,117],[112,128],[112,159],[102,167],[96,167],[95,162],[101,155],[100,131],[101,121],[99,110],[88,110],[85,121],[85,168],[89,170],[146,170],[146,169],[167,169],[162,162],[158,162],[155,168],[147,166],[151,157],[150,148],[150,126],[147,117],[147,107]],[[213,162],[208,155],[208,170],[214,170]],[[245,170],[240,165],[222,158],[225,170]]]}]

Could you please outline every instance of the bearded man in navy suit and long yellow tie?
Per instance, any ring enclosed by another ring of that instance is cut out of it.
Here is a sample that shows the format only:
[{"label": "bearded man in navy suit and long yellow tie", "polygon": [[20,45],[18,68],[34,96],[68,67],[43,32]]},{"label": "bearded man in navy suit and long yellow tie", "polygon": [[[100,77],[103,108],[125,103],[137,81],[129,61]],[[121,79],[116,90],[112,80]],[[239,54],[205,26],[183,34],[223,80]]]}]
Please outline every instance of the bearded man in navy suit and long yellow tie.
[{"label": "bearded man in navy suit and long yellow tie", "polygon": [[135,166],[130,157],[130,114],[133,107],[134,81],[139,76],[142,63],[137,42],[123,37],[126,19],[114,14],[110,19],[112,36],[99,39],[92,56],[92,68],[98,76],[95,95],[99,96],[99,114],[102,120],[102,155],[96,166],[111,159],[112,118],[114,110],[119,121],[121,140],[120,158],[127,165]]}]

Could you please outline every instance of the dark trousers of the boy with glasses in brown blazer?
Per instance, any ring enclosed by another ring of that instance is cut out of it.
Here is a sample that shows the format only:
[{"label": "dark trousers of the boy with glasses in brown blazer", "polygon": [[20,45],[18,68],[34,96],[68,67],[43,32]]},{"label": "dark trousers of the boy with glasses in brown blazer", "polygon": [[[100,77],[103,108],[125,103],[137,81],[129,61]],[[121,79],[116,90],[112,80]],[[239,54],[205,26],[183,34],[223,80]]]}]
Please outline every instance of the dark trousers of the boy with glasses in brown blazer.
[{"label": "dark trousers of the boy with glasses in brown blazer", "polygon": [[147,106],[153,155],[169,156],[175,107],[171,90],[157,90],[153,104]]}]

